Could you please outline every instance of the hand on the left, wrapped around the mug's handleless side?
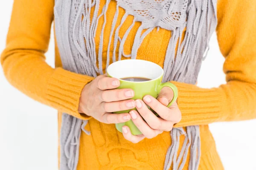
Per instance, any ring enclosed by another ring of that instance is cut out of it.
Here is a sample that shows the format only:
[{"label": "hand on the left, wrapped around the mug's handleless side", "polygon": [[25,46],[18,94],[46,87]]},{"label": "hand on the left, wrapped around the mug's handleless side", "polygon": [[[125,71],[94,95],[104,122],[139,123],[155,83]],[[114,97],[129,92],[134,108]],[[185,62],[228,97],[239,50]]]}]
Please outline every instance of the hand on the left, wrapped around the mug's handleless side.
[{"label": "hand on the left, wrapped around the mug's handleless side", "polygon": [[92,82],[84,86],[80,102],[79,113],[92,116],[99,122],[111,124],[127,122],[131,119],[129,113],[112,113],[135,108],[133,99],[134,91],[129,88],[119,87],[119,79],[107,77],[105,74],[96,77]]}]

